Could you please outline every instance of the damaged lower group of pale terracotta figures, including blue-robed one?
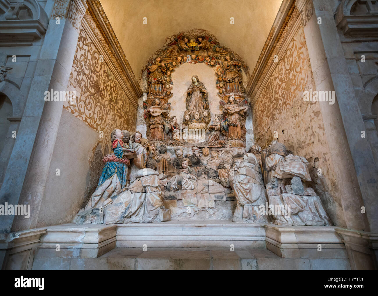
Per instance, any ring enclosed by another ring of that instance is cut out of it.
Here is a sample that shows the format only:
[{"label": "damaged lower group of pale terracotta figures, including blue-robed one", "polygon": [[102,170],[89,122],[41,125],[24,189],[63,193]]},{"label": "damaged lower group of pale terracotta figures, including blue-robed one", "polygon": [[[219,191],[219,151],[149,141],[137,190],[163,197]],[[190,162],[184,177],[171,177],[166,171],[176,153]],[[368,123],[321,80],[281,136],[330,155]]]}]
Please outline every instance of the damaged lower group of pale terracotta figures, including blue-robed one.
[{"label": "damaged lower group of pale terracotta figures, including blue-robed one", "polygon": [[[98,187],[76,215],[78,224],[164,222],[170,220],[165,195],[181,208],[211,209],[226,189],[236,199],[233,222],[332,224],[319,196],[305,186],[311,181],[307,160],[277,141],[263,150],[253,145],[248,153],[191,146],[192,153],[183,157],[183,148],[175,148],[176,157],[170,157],[165,145],[156,149],[138,131],[130,136],[115,129],[111,140],[112,153],[102,160]],[[163,160],[175,170],[172,178],[156,171]]]}]

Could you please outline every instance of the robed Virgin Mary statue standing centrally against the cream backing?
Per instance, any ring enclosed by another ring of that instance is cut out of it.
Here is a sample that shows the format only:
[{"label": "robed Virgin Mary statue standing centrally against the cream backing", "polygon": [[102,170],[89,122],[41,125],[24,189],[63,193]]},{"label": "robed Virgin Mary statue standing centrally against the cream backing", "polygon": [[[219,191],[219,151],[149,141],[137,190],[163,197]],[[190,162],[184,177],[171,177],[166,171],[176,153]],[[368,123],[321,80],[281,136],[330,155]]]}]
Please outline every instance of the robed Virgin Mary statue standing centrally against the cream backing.
[{"label": "robed Virgin Mary statue standing centrally against the cream backing", "polygon": [[197,75],[192,76],[192,83],[186,91],[186,114],[192,119],[196,113],[209,112],[209,95]]}]

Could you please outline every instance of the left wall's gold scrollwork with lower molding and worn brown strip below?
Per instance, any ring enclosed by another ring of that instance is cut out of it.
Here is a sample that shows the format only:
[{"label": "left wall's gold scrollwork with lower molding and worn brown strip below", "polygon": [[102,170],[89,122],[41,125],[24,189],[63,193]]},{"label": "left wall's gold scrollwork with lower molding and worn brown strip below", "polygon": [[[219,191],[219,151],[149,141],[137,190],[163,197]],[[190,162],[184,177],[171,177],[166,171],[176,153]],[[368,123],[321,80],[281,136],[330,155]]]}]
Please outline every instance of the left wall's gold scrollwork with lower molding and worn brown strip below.
[{"label": "left wall's gold scrollwork with lower molding and worn brown strip below", "polygon": [[[85,13],[79,29],[67,89],[75,91],[75,102],[65,102],[68,111],[98,132],[98,140],[88,153],[89,178],[83,204],[96,189],[103,164],[111,152],[110,133],[115,128],[134,132],[138,94],[135,94],[119,58],[110,48],[91,9]],[[115,40],[116,41],[116,40]],[[127,61],[126,61],[127,63]]]}]

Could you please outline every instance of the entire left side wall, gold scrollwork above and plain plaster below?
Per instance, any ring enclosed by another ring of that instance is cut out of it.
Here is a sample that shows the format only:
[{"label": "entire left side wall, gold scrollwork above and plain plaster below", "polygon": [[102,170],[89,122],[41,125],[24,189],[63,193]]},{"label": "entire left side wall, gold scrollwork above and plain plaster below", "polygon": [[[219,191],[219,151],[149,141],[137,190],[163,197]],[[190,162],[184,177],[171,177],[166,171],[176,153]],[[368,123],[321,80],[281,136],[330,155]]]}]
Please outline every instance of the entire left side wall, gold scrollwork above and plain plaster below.
[{"label": "entire left side wall, gold scrollwork above and plain plaster below", "polygon": [[[101,159],[111,151],[112,130],[135,131],[137,107],[135,98],[126,91],[131,88],[128,84],[119,61],[87,11],[67,86],[76,92],[76,100],[64,103],[37,227],[72,221],[97,186]],[[60,176],[56,176],[55,167],[60,168]]]}]

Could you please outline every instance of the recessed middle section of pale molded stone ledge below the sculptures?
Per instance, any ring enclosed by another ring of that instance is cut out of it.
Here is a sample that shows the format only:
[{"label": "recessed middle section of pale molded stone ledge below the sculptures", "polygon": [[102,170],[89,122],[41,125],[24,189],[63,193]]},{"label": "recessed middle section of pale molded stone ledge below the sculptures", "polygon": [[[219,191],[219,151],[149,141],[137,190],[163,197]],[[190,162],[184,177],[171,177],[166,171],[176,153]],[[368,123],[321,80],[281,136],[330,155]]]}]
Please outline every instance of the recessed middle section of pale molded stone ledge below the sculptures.
[{"label": "recessed middle section of pale molded stone ledge below the sculptures", "polygon": [[117,248],[265,248],[261,224],[227,220],[171,220],[164,223],[118,224]]}]

